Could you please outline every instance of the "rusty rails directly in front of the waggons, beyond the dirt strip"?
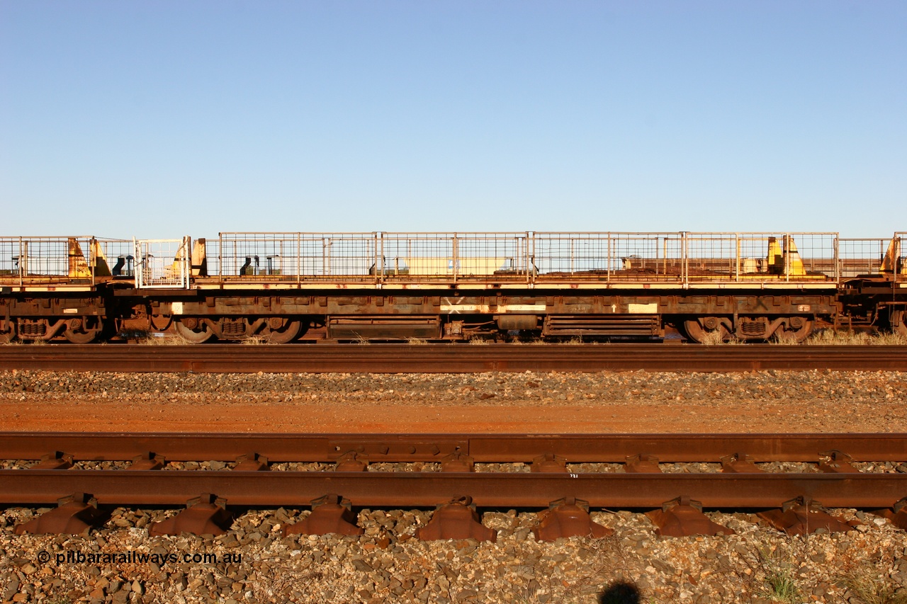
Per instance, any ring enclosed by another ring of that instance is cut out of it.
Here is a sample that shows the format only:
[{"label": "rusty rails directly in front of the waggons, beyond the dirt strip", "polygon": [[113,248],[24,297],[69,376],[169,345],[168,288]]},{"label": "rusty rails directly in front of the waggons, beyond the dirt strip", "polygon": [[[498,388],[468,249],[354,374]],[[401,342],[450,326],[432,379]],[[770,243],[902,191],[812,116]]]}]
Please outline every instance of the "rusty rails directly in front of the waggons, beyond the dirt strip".
[{"label": "rusty rails directly in front of the waggons, beyond the dirt strip", "polygon": [[907,346],[0,346],[0,370],[196,373],[907,371]]}]

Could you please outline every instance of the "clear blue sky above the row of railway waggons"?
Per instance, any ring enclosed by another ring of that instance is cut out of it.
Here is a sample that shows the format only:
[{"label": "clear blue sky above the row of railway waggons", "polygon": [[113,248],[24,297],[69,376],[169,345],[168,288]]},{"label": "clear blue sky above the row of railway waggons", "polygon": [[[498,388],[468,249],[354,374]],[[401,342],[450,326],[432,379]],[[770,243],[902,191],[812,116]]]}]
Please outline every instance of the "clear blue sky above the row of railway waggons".
[{"label": "clear blue sky above the row of railway waggons", "polygon": [[0,0],[0,235],[907,230],[907,2]]}]

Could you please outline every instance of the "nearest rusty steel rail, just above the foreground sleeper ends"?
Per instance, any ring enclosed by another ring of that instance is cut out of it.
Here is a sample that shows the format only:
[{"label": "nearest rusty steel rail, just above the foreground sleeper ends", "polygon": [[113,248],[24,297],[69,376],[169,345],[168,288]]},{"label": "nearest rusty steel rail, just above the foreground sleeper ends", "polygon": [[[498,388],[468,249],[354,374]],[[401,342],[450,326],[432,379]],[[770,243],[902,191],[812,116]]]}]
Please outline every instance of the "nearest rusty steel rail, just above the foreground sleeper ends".
[{"label": "nearest rusty steel rail, just above the foreground sleeper ends", "polygon": [[5,504],[54,503],[73,492],[104,505],[183,505],[213,493],[228,505],[298,507],[338,493],[385,507],[469,495],[483,507],[545,507],[571,496],[593,507],[650,508],[688,495],[708,508],[769,508],[805,495],[831,507],[884,508],[907,495],[907,474],[0,471]]}]

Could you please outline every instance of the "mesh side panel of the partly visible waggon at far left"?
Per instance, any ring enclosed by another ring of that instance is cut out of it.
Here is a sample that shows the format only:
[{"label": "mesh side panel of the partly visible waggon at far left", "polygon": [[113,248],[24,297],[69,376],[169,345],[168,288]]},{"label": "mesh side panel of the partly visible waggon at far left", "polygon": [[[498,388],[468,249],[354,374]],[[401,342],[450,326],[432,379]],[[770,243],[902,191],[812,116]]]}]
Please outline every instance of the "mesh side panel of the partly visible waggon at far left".
[{"label": "mesh side panel of the partly visible waggon at far left", "polygon": [[0,238],[0,279],[20,283],[92,283],[95,239],[79,237]]}]

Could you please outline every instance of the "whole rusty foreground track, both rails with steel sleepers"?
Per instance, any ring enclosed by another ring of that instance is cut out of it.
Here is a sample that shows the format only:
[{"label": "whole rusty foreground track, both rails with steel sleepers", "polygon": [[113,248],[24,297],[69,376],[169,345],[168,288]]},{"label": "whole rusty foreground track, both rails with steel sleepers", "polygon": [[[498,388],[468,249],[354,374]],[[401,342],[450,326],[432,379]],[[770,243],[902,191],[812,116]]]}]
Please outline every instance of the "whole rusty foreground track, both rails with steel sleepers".
[{"label": "whole rusty foreground track, both rails with steel sleepers", "polygon": [[[814,502],[887,509],[892,521],[907,528],[905,434],[0,435],[0,457],[34,460],[39,456],[42,461],[24,464],[31,466],[27,469],[0,471],[0,502],[63,502],[45,522],[57,529],[70,526],[73,516],[83,517],[99,503],[172,506],[189,502],[184,512],[189,520],[178,522],[180,531],[210,531],[211,518],[223,516],[228,505],[311,504],[317,510],[326,503],[328,507],[321,507],[319,513],[327,514],[327,529],[313,531],[334,531],[330,524],[334,516],[328,512],[343,515],[344,498],[347,507],[440,505],[439,510],[453,515],[463,511],[473,516],[460,524],[463,531],[481,526],[478,516],[466,511],[469,504],[547,507],[569,519],[586,513],[576,502],[586,510],[661,508],[674,514],[673,520],[665,521],[665,531],[672,530],[669,526],[677,518],[681,531],[696,530],[697,522],[705,518],[703,507],[768,509],[769,517],[778,518],[799,513],[800,520],[793,521],[791,530],[803,531],[805,522],[808,531],[811,521],[814,526],[826,526],[816,524],[819,517],[810,516],[818,513]],[[219,461],[218,467],[229,471],[168,467],[203,460]],[[272,464],[286,462],[321,465],[265,472]],[[416,462],[420,465],[414,467]],[[434,463],[431,471],[422,465],[426,462]],[[721,465],[713,471],[662,472],[659,463],[671,462]],[[813,465],[796,472],[766,472],[756,465],[770,462]],[[888,469],[879,471],[873,465],[872,471],[863,472],[860,464],[865,462],[887,463]],[[98,463],[119,465],[84,469],[86,464]],[[502,471],[500,466],[481,468],[477,465],[481,463],[522,467]],[[578,463],[619,463],[619,467],[590,471],[588,466],[580,470]],[[87,503],[88,498],[93,503]],[[690,514],[696,520],[684,520]],[[326,522],[325,518],[320,521]],[[557,531],[559,536],[585,534],[583,529]]]}]

